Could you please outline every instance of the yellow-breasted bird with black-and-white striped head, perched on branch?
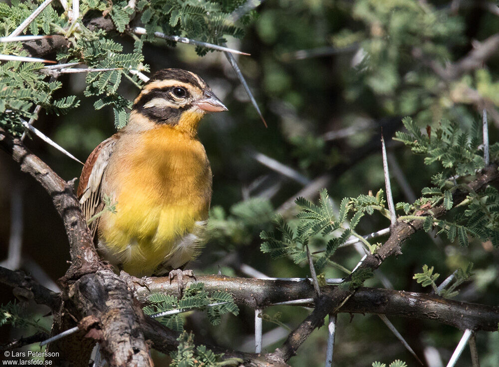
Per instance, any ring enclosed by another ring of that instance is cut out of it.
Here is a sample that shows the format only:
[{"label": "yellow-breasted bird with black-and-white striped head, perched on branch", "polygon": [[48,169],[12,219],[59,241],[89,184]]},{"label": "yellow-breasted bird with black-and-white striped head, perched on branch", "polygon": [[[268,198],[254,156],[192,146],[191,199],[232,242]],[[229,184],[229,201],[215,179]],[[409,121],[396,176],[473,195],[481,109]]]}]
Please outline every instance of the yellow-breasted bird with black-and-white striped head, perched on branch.
[{"label": "yellow-breasted bird with black-and-white striped head, perched on branch", "polygon": [[142,87],[127,125],[89,155],[77,196],[99,255],[116,269],[133,279],[168,273],[180,293],[183,276],[194,277],[183,269],[205,242],[212,197],[198,126],[227,110],[197,74],[163,69]]}]

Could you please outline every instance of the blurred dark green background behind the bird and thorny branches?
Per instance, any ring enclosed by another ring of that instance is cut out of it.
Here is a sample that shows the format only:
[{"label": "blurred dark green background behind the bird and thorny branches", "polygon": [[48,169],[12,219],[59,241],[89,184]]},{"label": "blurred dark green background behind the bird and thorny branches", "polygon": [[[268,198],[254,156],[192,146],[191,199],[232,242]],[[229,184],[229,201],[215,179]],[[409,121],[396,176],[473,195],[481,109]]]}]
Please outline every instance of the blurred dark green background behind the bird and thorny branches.
[{"label": "blurred dark green background behind the bird and thorny branches", "polygon": [[[251,54],[236,57],[268,128],[223,53],[200,57],[191,45],[172,48],[161,41],[144,46],[151,72],[167,67],[193,71],[229,108],[227,113],[207,116],[199,132],[212,165],[214,193],[211,239],[193,263],[196,274],[220,269],[234,276],[252,276],[254,270],[271,277],[309,275],[308,266],[262,254],[260,231],[273,227],[275,211],[292,217],[297,195],[315,199],[326,187],[339,204],[345,196],[384,188],[382,132],[395,201],[419,197],[431,176],[442,170],[438,165],[425,166],[422,157],[391,141],[402,129],[404,116],[413,117],[422,128],[449,119],[470,129],[486,107],[491,142],[497,141],[499,8],[495,1],[267,0],[256,13],[246,35],[229,39],[228,46]],[[125,51],[133,49],[132,38],[115,40]],[[460,63],[477,50],[481,51],[477,57]],[[85,161],[115,132],[113,113],[106,108],[96,111],[95,99],[83,96],[82,74],[59,80],[63,88],[56,97],[75,94],[80,106],[60,117],[42,112],[36,127]],[[138,89],[123,80],[120,93],[133,99]],[[79,177],[79,164],[36,137],[26,139],[26,145],[63,179]],[[3,153],[0,213],[1,265],[24,269],[56,290],[69,260],[62,222],[46,193]],[[388,226],[386,218],[374,215],[363,219],[357,230],[367,234]],[[338,250],[334,261],[351,269],[360,258],[354,247],[346,247]],[[403,255],[386,261],[366,285],[384,287],[387,283],[380,280],[384,279],[395,289],[422,292],[426,290],[413,280],[422,265],[434,265],[443,281],[473,262],[473,281],[461,287],[457,299],[498,305],[498,260],[499,252],[491,243],[475,241],[462,248],[445,237],[418,233],[404,245]],[[334,268],[325,274],[343,275]],[[10,289],[0,286],[0,290],[1,303],[13,299]],[[40,317],[47,312],[30,311]],[[309,312],[284,306],[264,310],[269,316],[281,313],[279,321],[290,328]],[[253,310],[241,307],[238,317],[226,315],[220,326],[212,327],[202,313],[191,313],[187,329],[206,343],[251,351],[253,318]],[[426,366],[445,365],[461,337],[460,331],[437,322],[391,321]],[[285,328],[266,321],[263,332],[266,351],[278,347],[287,335]],[[323,365],[326,335],[326,328],[314,332],[289,363]],[[15,336],[17,330],[0,329],[0,343]],[[477,343],[481,366],[498,366],[499,333],[478,333]],[[167,360],[159,353],[155,359],[159,366]],[[339,315],[335,366],[389,364],[395,359],[418,364],[376,315]],[[470,364],[466,350],[458,366]]]}]

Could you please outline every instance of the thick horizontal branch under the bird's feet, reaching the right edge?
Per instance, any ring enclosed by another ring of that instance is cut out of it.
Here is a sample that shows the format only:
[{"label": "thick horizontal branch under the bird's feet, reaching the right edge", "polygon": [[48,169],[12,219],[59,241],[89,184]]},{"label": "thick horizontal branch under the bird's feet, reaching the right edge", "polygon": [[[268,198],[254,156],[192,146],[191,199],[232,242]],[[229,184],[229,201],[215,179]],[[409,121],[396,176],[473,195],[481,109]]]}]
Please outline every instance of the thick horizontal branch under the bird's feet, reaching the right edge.
[{"label": "thick horizontal branch under the bird's feet, reaching the right edge", "polygon": [[[208,292],[220,289],[229,292],[235,302],[251,308],[268,307],[274,303],[298,299],[311,299],[315,292],[308,280],[299,282],[232,278],[223,275],[198,276]],[[162,293],[178,296],[178,287],[167,277],[149,278],[148,288],[137,287],[136,298],[147,304],[151,294]],[[321,287],[326,295],[338,286]],[[313,307],[313,302],[303,304]],[[332,309],[329,309],[332,311]],[[435,320],[460,329],[495,331],[499,323],[499,307],[459,302],[426,293],[395,291],[382,288],[361,287],[338,312],[384,314],[421,320]]]}]

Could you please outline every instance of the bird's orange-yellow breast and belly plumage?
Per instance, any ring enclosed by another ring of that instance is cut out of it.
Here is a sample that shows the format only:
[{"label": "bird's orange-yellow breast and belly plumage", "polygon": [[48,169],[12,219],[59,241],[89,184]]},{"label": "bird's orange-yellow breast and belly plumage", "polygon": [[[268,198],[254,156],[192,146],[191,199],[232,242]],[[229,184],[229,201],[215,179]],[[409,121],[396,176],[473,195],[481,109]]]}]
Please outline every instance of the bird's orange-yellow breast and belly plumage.
[{"label": "bird's orange-yellow breast and belly plumage", "polygon": [[[99,223],[106,250],[132,275],[150,275],[169,258],[187,262],[196,248],[179,249],[179,243],[207,219],[211,199],[212,174],[203,145],[168,125],[119,144],[124,153],[112,156],[106,173],[114,175],[117,213],[106,213]],[[185,253],[175,256],[176,250]]]}]

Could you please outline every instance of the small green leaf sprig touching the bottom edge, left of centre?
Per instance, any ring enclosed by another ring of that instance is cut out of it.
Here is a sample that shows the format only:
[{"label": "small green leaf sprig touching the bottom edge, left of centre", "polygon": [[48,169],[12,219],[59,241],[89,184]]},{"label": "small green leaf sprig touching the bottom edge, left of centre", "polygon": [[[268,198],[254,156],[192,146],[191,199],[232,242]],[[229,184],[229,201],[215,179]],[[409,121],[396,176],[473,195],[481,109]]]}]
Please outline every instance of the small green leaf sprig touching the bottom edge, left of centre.
[{"label": "small green leaf sprig touching the bottom edge, left of centre", "polygon": [[239,358],[223,359],[224,354],[215,354],[204,345],[195,346],[192,333],[185,331],[177,339],[179,346],[172,357],[171,367],[221,367],[239,366],[244,361]]}]

